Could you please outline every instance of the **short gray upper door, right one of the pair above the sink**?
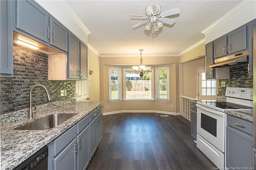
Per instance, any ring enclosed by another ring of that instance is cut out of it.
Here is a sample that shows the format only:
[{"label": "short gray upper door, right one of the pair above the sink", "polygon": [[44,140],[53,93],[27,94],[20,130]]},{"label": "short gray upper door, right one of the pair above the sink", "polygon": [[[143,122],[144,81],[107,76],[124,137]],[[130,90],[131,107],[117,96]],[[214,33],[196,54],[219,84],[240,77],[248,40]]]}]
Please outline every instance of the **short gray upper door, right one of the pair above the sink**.
[{"label": "short gray upper door, right one of the pair above the sink", "polygon": [[50,30],[50,44],[63,51],[68,51],[68,29],[50,16]]}]

